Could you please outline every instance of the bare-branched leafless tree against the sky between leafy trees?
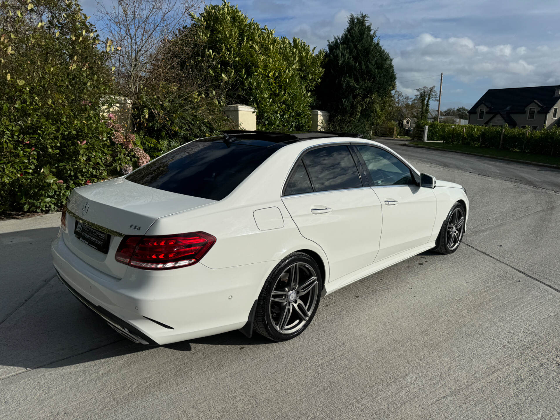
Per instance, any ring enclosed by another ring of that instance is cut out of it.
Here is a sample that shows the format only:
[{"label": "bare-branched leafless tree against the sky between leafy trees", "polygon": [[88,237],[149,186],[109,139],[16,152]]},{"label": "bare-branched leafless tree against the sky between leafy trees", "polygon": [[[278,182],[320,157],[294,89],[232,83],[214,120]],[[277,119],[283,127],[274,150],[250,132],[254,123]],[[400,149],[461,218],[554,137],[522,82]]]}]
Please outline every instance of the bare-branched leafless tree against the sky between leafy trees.
[{"label": "bare-branched leafless tree against the sky between leafy trees", "polygon": [[202,0],[117,0],[97,3],[98,26],[119,50],[113,66],[119,89],[130,99],[142,94],[153,63],[165,54],[165,40],[189,23]]}]

